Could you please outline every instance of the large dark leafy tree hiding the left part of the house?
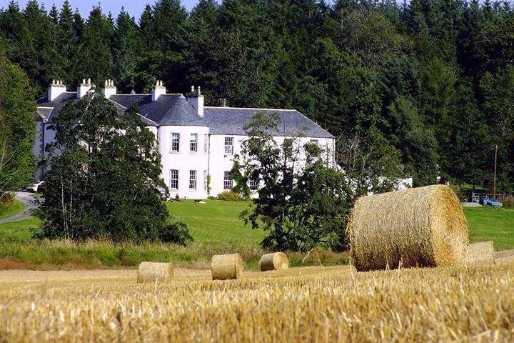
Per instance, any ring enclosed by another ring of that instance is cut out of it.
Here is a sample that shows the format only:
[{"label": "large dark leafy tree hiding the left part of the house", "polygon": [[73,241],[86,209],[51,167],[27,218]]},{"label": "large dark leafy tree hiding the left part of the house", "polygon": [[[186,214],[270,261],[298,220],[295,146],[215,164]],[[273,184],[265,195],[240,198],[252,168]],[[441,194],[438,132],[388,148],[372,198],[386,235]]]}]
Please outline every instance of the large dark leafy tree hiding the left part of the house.
[{"label": "large dark leafy tree hiding the left part of the house", "polygon": [[161,239],[186,244],[186,224],[168,217],[168,189],[153,133],[132,107],[120,113],[103,96],[69,102],[52,124],[44,202],[36,214],[44,237]]}]

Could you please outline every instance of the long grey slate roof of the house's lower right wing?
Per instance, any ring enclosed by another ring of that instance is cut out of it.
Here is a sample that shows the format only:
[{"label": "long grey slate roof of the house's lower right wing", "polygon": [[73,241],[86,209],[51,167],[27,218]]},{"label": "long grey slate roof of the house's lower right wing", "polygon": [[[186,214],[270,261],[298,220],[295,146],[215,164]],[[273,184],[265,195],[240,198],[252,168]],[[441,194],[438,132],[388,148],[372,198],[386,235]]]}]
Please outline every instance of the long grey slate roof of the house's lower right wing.
[{"label": "long grey slate roof of the house's lower right wing", "polygon": [[246,135],[244,124],[255,114],[278,114],[281,122],[274,136],[306,136],[314,138],[334,138],[318,124],[294,109],[237,109],[231,107],[206,107],[211,134]]}]

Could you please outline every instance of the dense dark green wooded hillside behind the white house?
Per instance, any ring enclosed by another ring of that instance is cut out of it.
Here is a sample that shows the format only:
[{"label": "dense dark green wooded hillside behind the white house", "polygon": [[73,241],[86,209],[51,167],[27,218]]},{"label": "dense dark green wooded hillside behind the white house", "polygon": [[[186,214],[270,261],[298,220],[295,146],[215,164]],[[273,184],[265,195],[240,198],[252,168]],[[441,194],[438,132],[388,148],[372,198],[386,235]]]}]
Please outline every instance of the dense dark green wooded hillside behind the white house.
[{"label": "dense dark green wooded hillside behind the white house", "polygon": [[158,0],[140,18],[13,1],[0,47],[44,96],[51,79],[119,91],[202,87],[206,104],[295,108],[387,151],[415,185],[514,192],[514,7],[455,0]]}]

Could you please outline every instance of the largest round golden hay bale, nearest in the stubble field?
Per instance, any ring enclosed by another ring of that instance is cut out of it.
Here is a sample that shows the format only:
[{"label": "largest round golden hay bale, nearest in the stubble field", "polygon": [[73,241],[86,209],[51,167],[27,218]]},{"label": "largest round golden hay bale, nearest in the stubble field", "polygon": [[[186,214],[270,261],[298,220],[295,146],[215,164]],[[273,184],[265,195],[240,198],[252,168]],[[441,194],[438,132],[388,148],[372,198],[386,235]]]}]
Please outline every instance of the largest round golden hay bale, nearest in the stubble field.
[{"label": "largest round golden hay bale, nearest in the stubble field", "polygon": [[450,187],[433,185],[361,197],[348,223],[358,271],[463,266],[468,227]]}]

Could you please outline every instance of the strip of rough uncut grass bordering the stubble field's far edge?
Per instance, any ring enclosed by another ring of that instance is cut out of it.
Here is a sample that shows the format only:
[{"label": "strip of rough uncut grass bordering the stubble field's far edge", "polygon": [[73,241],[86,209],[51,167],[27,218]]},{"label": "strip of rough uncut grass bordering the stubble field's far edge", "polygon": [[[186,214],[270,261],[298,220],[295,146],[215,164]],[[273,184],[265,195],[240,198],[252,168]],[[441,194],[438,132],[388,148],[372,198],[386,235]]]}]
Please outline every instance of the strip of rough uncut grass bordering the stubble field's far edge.
[{"label": "strip of rough uncut grass bordering the stubble field's far edge", "polygon": [[[234,246],[191,244],[112,244],[90,241],[81,244],[68,241],[0,242],[0,269],[109,269],[137,267],[140,262],[171,262],[176,267],[208,269],[214,254],[238,252],[245,268],[258,269],[262,249]],[[348,264],[348,254],[320,252],[311,254],[289,252],[291,267]],[[14,267],[13,267],[14,266]]]}]

